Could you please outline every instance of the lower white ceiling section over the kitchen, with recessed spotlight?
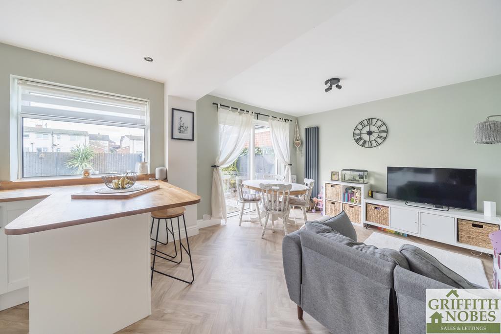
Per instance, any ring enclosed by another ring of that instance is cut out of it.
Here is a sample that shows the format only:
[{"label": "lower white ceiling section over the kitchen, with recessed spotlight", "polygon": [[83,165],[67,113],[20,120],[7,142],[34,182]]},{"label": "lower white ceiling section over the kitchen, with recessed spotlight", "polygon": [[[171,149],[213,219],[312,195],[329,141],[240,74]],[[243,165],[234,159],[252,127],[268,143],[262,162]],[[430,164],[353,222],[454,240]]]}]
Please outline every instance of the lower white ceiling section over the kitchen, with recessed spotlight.
[{"label": "lower white ceiling section over the kitchen, with recessed spotlight", "polygon": [[0,42],[164,82],[169,95],[196,100],[350,3],[0,0]]}]

